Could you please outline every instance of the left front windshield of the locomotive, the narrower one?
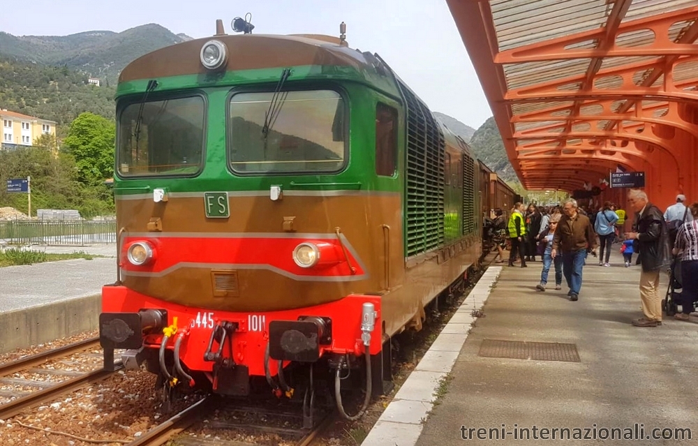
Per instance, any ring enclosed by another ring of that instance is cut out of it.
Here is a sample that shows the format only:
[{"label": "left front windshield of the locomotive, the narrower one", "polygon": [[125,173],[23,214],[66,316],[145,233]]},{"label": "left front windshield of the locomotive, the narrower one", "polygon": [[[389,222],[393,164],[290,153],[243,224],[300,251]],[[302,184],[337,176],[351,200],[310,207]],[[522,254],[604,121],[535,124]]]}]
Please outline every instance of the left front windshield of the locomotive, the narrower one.
[{"label": "left front windshield of the locomotive, the narrower one", "polygon": [[204,98],[126,105],[119,115],[118,144],[122,177],[196,174],[202,166]]}]

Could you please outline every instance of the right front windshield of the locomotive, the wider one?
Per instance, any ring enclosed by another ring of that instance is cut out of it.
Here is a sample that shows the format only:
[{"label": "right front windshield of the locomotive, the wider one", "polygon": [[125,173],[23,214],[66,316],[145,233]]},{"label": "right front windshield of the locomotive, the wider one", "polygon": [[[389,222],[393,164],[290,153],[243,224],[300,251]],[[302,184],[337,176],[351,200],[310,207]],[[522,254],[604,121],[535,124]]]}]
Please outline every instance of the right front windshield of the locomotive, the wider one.
[{"label": "right front windshield of the locomotive, the wider one", "polygon": [[346,113],[336,91],[235,94],[229,119],[235,172],[336,172],[344,165]]}]

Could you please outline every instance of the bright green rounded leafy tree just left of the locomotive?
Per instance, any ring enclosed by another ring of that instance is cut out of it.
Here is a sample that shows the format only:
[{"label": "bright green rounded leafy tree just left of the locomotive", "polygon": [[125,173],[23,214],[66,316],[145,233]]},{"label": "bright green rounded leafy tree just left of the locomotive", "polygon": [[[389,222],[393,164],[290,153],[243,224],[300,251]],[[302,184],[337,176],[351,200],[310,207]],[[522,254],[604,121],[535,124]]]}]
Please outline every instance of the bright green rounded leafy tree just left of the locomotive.
[{"label": "bright green rounded leafy tree just left of the locomotive", "polygon": [[70,123],[63,145],[75,158],[80,182],[94,185],[112,177],[115,138],[114,122],[91,112],[81,113]]}]

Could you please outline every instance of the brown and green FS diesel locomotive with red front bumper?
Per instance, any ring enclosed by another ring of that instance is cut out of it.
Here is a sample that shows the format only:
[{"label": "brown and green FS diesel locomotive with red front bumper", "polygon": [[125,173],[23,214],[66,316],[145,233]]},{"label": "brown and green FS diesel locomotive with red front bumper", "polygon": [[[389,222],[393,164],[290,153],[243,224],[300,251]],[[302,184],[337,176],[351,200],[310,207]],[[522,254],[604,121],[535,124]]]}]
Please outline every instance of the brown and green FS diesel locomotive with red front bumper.
[{"label": "brown and green FS diesel locomotive with red front bumper", "polygon": [[391,336],[463,287],[489,186],[378,54],[216,28],[119,77],[105,366],[124,349],[166,391],[304,382],[309,410],[324,371],[343,412],[341,378],[383,392]]}]

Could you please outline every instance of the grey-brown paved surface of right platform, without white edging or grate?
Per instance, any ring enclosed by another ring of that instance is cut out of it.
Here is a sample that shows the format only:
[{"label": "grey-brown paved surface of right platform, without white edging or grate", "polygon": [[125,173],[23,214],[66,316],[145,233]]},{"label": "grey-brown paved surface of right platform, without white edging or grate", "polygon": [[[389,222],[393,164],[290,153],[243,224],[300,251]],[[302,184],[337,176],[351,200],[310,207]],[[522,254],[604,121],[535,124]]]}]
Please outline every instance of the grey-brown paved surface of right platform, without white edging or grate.
[{"label": "grey-brown paved surface of right platform, without white edging or grate", "polygon": [[[601,428],[634,428],[638,423],[644,425],[645,437],[654,428],[688,427],[695,440],[698,320],[664,318],[662,327],[633,327],[630,320],[641,316],[639,267],[623,267],[616,252],[611,262],[621,266],[584,268],[578,302],[567,300],[566,287],[559,292],[534,289],[540,262],[527,269],[504,267],[484,306],[486,317],[477,320],[470,332],[447,394],[433,409],[417,445],[461,445],[461,426],[501,431],[502,425],[512,433],[515,425],[597,426],[598,438],[605,433]],[[663,274],[662,283],[665,279]],[[484,339],[572,343],[581,362],[480,357]],[[508,445],[514,436],[484,443]],[[593,443],[629,442],[609,438]],[[643,443],[683,442],[645,438]]]}]

